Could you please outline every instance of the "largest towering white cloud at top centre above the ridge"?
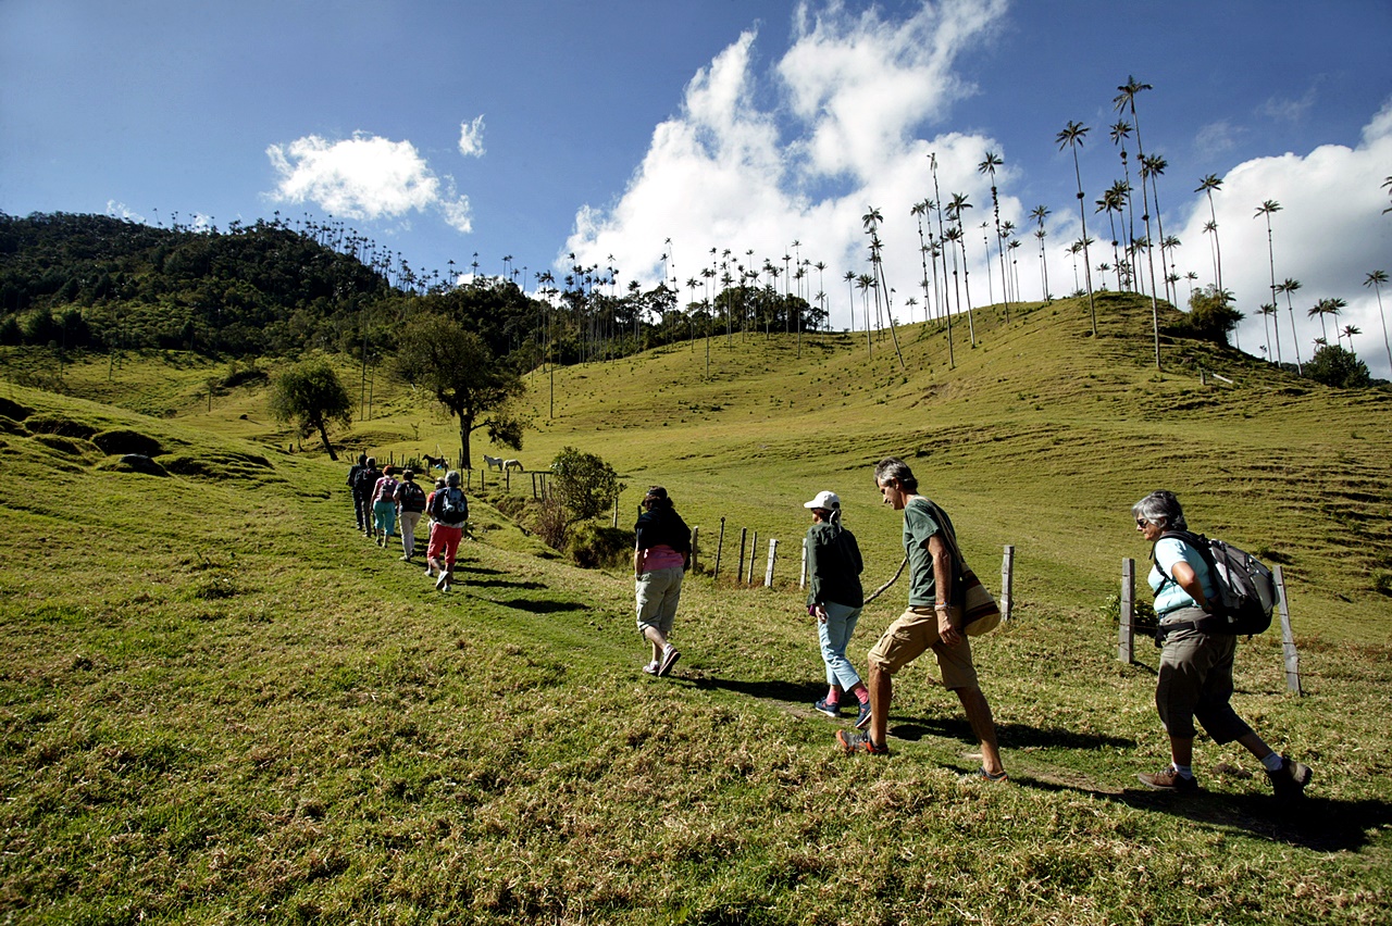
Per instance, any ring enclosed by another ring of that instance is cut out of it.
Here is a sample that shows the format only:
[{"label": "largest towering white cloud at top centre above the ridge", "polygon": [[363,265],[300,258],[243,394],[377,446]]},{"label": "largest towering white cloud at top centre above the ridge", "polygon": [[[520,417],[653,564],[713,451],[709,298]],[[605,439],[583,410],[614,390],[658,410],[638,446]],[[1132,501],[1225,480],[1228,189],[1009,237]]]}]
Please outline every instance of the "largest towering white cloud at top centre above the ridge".
[{"label": "largest towering white cloud at top centre above the ridge", "polygon": [[[852,17],[839,1],[816,11],[803,3],[792,46],[767,72],[767,85],[754,70],[757,33],[743,33],[690,81],[679,115],[654,129],[624,195],[611,207],[576,213],[567,252],[600,267],[612,254],[628,277],[654,284],[671,239],[668,274],[685,298],[685,281],[699,279],[727,249],[731,273],[738,263],[759,268],[766,260],[781,270],[784,256],[798,254],[859,268],[869,243],[860,217],[878,206],[895,314],[908,320],[903,302],[910,295],[922,302],[919,239],[908,209],[931,196],[928,154],[937,153],[944,197],[965,192],[976,204],[973,218],[991,216],[990,184],[976,165],[986,150],[1001,153],[988,138],[948,133],[926,142],[915,132],[972,92],[951,65],[1004,13],[1004,0],[924,3],[906,21],[888,22],[876,7]],[[777,101],[760,108],[756,100],[768,90]],[[1013,199],[1002,199],[1001,216],[1023,224]],[[979,261],[980,236],[974,241],[973,250],[969,235],[967,247]],[[813,270],[809,295],[821,282]],[[845,327],[838,284],[839,277],[825,279],[825,289],[832,325]],[[995,286],[999,292],[999,279]]]}]

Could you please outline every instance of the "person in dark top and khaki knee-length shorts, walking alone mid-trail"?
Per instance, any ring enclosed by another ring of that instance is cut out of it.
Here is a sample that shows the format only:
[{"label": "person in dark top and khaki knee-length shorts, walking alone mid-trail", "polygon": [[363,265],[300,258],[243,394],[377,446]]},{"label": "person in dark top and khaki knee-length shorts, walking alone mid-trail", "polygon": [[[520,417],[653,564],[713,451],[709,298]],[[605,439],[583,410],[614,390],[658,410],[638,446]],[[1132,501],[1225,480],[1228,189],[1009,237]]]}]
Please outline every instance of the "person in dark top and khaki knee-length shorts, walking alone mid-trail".
[{"label": "person in dark top and khaki knee-length shorts, walking alone mid-trail", "polygon": [[639,503],[633,534],[638,633],[653,647],[653,659],[643,666],[643,672],[663,677],[681,658],[667,638],[682,596],[682,578],[692,564],[692,533],[672,507],[667,489],[654,485]]}]

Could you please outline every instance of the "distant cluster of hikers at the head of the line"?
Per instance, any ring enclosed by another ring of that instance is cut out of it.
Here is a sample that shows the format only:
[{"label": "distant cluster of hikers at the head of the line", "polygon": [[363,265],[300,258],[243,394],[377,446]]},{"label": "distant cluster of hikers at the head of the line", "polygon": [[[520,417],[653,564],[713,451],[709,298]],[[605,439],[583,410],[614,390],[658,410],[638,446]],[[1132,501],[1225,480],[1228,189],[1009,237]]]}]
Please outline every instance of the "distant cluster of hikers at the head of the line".
[{"label": "distant cluster of hikers at the head of the line", "polygon": [[450,591],[459,541],[469,520],[469,502],[459,488],[459,471],[450,470],[436,478],[434,487],[426,492],[416,484],[413,469],[387,466],[379,470],[376,457],[362,453],[348,470],[348,488],[352,491],[358,530],[383,549],[391,549],[393,538],[400,535],[401,560],[405,563],[415,562],[416,527],[423,516],[430,516],[426,577],[436,580],[437,590]]}]

